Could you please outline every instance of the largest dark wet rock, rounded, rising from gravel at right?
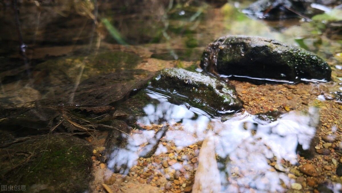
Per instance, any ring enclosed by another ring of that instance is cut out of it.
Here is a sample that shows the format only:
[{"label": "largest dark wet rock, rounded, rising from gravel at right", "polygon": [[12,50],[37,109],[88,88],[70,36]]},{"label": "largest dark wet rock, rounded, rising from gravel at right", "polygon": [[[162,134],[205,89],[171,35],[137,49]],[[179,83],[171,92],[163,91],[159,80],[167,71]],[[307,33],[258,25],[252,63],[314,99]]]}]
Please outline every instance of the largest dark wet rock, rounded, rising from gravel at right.
[{"label": "largest dark wet rock, rounded, rising from gravel at right", "polygon": [[260,37],[221,37],[208,45],[200,66],[209,72],[254,82],[331,80],[331,69],[322,58]]}]

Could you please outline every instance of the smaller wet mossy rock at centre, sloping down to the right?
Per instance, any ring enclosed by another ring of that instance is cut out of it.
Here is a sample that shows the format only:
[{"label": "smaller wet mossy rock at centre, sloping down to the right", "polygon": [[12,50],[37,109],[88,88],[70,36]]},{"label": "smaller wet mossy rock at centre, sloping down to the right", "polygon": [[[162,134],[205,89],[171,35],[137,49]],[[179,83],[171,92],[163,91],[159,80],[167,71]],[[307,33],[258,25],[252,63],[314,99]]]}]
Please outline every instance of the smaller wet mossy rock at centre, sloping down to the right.
[{"label": "smaller wet mossy rock at centre, sloping down to the right", "polygon": [[151,79],[150,86],[207,111],[229,113],[242,108],[242,102],[231,85],[197,72],[164,69]]}]

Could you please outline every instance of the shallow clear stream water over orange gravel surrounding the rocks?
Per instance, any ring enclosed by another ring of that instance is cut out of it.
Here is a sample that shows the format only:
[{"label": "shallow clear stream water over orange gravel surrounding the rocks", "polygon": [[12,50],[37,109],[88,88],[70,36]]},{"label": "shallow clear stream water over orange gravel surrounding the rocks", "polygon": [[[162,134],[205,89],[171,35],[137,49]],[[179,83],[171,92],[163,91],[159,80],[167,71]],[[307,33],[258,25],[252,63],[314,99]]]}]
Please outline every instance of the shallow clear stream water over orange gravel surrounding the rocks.
[{"label": "shallow clear stream water over orange gravel surrounding the rocks", "polygon": [[[124,117],[132,128],[117,134],[120,144],[110,145],[106,158],[96,157],[108,170],[95,172],[87,188],[93,192],[105,191],[102,183],[121,192],[137,187],[141,192],[341,190],[337,163],[342,153],[341,20],[255,19],[242,12],[251,1],[134,2],[20,1],[16,20],[12,4],[0,1],[0,123],[19,110],[36,108],[19,112],[15,120],[28,118],[0,125],[0,130],[17,138],[26,135],[27,128],[30,136],[37,135],[30,133],[32,128],[52,132],[61,124],[71,133],[81,128],[79,136],[84,139],[89,132],[84,128],[95,130],[99,119]],[[223,115],[151,87],[133,90],[132,82],[164,68],[201,71],[198,65],[205,47],[226,35],[260,36],[302,47],[327,61],[332,81],[295,85],[231,81],[244,109]],[[136,93],[144,100],[132,98]],[[109,107],[116,110],[114,115]],[[53,115],[49,122],[46,109],[62,115]],[[77,123],[71,119],[76,117]],[[37,126],[30,119],[48,124]],[[93,141],[107,135],[107,130],[99,130],[89,135]],[[323,140],[324,136],[333,141]],[[94,156],[98,156],[95,146],[106,146],[92,145]],[[319,153],[323,149],[329,153]],[[316,166],[317,176],[302,172],[307,163]]]}]

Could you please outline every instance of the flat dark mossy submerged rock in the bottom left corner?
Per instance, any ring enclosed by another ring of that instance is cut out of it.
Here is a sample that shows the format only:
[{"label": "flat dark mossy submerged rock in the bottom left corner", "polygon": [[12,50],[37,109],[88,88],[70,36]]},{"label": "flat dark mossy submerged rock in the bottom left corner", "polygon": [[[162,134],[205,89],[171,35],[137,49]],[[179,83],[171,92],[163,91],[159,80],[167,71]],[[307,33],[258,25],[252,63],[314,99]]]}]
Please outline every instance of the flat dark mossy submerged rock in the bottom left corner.
[{"label": "flat dark mossy submerged rock in the bottom left corner", "polygon": [[29,192],[84,192],[92,179],[89,144],[70,135],[34,136],[0,149],[2,184]]}]

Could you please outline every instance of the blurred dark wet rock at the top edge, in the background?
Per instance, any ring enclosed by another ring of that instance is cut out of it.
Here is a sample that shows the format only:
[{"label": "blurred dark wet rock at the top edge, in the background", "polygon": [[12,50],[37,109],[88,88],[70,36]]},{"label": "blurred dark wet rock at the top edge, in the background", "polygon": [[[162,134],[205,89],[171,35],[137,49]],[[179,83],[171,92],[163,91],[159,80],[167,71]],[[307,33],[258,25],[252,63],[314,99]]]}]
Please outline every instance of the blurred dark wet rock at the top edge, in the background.
[{"label": "blurred dark wet rock at the top edge, in the background", "polygon": [[242,10],[252,17],[270,20],[298,17],[304,11],[304,3],[293,0],[259,0]]}]

